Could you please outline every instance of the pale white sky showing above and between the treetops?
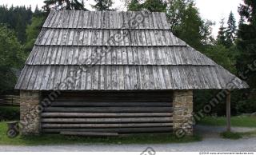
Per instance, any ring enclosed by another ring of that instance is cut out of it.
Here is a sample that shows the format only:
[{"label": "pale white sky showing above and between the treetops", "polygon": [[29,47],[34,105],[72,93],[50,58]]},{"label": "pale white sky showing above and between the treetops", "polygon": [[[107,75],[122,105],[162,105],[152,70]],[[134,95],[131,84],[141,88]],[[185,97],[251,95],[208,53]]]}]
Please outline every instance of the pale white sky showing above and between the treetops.
[{"label": "pale white sky showing above and between the treetops", "polygon": [[[0,5],[8,5],[11,6],[31,6],[34,10],[35,6],[38,7],[43,6],[44,0],[0,0]],[[118,8],[118,10],[125,10],[124,7],[124,0],[113,0],[114,8]],[[196,6],[199,9],[199,12],[203,19],[210,20],[215,22],[213,28],[213,35],[214,37],[218,34],[218,27],[219,22],[222,18],[227,20],[230,11],[234,13],[234,17],[236,18],[237,22],[239,20],[238,15],[238,6],[242,3],[242,0],[195,0]],[[93,0],[85,0],[87,3],[87,7],[90,9],[90,4],[94,4]]]}]

